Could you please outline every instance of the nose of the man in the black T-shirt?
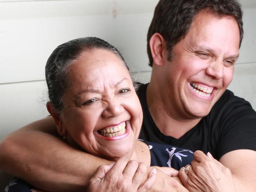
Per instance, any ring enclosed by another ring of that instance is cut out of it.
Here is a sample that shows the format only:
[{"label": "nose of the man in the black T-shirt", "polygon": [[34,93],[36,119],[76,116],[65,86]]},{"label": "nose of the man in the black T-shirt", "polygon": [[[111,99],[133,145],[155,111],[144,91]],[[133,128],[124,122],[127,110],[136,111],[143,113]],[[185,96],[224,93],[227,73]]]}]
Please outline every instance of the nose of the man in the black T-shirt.
[{"label": "nose of the man in the black T-shirt", "polygon": [[224,63],[222,60],[216,60],[209,63],[206,74],[213,79],[221,79],[224,76]]}]

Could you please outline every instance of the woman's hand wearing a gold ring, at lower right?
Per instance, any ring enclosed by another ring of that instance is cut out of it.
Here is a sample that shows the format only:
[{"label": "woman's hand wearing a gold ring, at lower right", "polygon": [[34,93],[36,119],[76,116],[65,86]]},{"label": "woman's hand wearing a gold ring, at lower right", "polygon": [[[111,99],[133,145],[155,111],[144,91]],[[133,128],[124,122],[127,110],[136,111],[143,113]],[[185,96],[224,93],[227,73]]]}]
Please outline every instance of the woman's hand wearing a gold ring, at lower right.
[{"label": "woman's hand wearing a gold ring, at lower right", "polygon": [[181,182],[190,192],[235,191],[230,170],[214,159],[210,153],[205,155],[202,151],[196,151],[191,166],[192,169],[187,169],[187,174],[182,168],[179,170]]}]

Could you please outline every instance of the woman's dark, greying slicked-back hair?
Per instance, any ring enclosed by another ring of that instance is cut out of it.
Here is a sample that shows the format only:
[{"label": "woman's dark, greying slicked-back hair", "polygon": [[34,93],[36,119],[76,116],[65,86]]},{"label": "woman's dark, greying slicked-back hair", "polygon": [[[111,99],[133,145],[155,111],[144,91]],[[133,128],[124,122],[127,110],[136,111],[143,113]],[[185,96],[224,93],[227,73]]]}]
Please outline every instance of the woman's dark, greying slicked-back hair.
[{"label": "woman's dark, greying slicked-back hair", "polygon": [[[63,109],[62,98],[65,90],[69,88],[67,73],[70,66],[75,63],[85,51],[95,49],[108,50],[118,56],[125,67],[127,64],[120,52],[107,41],[97,37],[84,37],[73,39],[59,45],[50,55],[45,66],[45,78],[48,87],[50,104],[57,113]],[[129,68],[127,67],[128,71]]]}]

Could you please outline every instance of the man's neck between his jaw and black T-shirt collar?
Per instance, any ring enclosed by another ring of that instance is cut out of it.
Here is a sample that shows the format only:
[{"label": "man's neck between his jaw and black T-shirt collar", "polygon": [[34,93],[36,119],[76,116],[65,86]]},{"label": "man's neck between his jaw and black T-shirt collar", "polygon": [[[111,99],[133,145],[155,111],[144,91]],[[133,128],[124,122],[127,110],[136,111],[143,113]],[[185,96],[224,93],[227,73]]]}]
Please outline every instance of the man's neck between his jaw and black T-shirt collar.
[{"label": "man's neck between his jaw and black T-shirt collar", "polygon": [[149,83],[146,91],[147,104],[149,112],[157,125],[158,129],[166,136],[172,136],[176,139],[183,136],[187,131],[199,123],[201,119],[181,119],[172,116],[164,109],[164,103],[158,94],[157,88]]}]

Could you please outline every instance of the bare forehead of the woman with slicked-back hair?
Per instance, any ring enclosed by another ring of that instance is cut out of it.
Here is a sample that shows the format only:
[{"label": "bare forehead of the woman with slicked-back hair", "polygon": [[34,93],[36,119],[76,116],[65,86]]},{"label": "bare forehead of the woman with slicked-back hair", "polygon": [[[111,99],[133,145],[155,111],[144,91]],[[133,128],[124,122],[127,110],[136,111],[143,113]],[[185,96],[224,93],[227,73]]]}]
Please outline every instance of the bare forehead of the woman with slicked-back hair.
[{"label": "bare forehead of the woman with slicked-back hair", "polygon": [[81,91],[81,87],[102,89],[103,85],[110,86],[127,76],[129,72],[120,58],[100,49],[83,52],[68,72],[71,85],[77,87],[77,91]]}]

